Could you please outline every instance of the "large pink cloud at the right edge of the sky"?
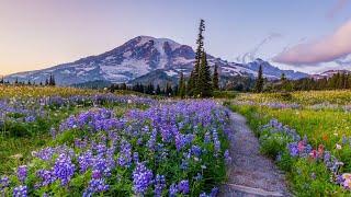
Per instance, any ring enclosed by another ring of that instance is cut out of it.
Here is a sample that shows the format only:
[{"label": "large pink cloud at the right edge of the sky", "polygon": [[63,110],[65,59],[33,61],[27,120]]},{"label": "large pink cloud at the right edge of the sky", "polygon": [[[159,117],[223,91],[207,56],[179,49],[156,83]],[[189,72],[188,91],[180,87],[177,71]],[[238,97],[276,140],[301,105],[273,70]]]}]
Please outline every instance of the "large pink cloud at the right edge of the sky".
[{"label": "large pink cloud at the right edge of the sky", "polygon": [[304,43],[275,56],[273,61],[288,65],[316,65],[351,54],[351,20],[330,36]]}]

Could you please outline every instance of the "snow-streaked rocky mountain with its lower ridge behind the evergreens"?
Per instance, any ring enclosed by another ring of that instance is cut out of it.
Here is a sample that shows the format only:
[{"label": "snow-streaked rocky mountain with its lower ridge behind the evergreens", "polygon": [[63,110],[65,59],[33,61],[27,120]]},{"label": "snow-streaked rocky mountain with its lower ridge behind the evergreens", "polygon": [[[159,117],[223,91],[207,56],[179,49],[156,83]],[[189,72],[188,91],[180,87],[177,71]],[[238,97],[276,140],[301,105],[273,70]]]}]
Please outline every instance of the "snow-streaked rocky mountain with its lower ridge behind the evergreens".
[{"label": "snow-streaked rocky mountain with its lower ridge behind the evergreens", "polygon": [[[292,70],[280,70],[267,61],[256,59],[249,63],[228,62],[220,58],[207,56],[208,63],[219,67],[222,76],[249,76],[257,74],[260,65],[267,78],[276,79],[284,72],[290,79],[307,77],[306,73]],[[73,62],[58,65],[48,69],[20,72],[7,76],[11,81],[44,82],[50,74],[55,76],[56,83],[71,85],[89,81],[110,81],[113,83],[147,80],[151,76],[154,80],[158,76],[167,74],[173,81],[180,72],[190,74],[195,59],[194,50],[188,45],[181,45],[168,38],[155,38],[150,36],[135,37],[120,47],[98,56],[89,56]]]}]

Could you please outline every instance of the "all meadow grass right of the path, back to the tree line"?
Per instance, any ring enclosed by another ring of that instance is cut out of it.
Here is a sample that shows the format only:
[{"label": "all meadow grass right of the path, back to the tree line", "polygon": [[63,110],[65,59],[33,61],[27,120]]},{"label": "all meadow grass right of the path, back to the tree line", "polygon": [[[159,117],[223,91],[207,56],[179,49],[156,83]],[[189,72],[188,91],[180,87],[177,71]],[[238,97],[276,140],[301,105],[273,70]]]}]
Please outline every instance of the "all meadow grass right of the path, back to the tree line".
[{"label": "all meadow grass right of the path, back to the tree line", "polygon": [[[261,152],[271,157],[286,172],[293,194],[296,196],[349,196],[348,189],[331,182],[332,174],[321,162],[309,158],[294,158],[288,153],[288,140],[284,135],[262,131],[262,126],[272,118],[296,129],[302,137],[306,136],[313,149],[324,148],[343,166],[342,173],[351,172],[351,115],[340,108],[312,108],[309,106],[329,103],[346,105],[351,101],[351,91],[312,91],[293,92],[291,96],[282,93],[239,94],[236,100],[250,104],[233,104],[230,108],[245,115],[261,142]],[[296,103],[301,107],[270,107],[262,103]],[[236,103],[236,102],[234,102]],[[328,106],[327,104],[326,106]],[[338,148],[337,148],[338,146]]]}]

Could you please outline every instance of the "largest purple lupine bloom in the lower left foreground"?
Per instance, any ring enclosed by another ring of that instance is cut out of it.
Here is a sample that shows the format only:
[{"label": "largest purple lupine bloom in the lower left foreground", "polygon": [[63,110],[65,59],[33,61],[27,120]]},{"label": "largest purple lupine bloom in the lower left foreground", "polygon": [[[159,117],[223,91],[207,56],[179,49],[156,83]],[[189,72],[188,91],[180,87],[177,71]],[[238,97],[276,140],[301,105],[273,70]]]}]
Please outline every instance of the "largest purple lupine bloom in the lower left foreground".
[{"label": "largest purple lupine bloom in the lower left foreground", "polygon": [[65,154],[60,154],[54,165],[54,174],[60,179],[61,185],[67,185],[70,178],[75,174],[76,166],[71,162],[70,158]]}]

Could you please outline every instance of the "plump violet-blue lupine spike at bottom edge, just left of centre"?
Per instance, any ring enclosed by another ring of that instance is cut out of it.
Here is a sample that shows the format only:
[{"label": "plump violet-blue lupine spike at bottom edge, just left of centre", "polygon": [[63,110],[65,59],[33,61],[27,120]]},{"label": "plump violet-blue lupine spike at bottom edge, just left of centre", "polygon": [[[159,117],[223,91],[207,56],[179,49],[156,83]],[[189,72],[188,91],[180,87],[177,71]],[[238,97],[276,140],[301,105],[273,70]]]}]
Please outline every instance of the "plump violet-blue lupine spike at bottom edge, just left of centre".
[{"label": "plump violet-blue lupine spike at bottom edge, just left of centre", "polygon": [[144,163],[138,163],[133,171],[133,189],[136,194],[144,194],[152,184],[154,174]]}]

